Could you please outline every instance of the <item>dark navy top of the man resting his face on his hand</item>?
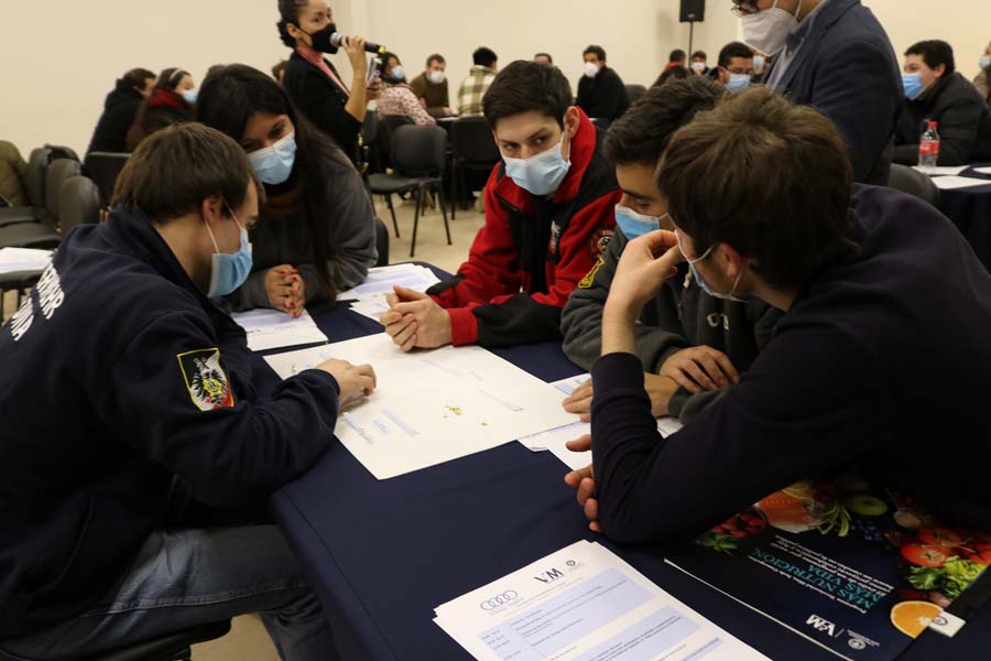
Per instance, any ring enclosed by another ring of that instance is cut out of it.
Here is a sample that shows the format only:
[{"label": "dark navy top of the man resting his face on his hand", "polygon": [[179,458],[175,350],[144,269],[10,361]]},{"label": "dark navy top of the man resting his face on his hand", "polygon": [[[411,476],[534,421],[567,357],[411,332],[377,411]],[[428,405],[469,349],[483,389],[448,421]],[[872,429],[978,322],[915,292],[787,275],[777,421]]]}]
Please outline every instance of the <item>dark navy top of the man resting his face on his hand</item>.
[{"label": "dark navy top of the man resting his face on his hand", "polygon": [[740,382],[660,437],[632,354],[592,368],[602,529],[690,539],[857,463],[949,518],[991,525],[991,274],[954,225],[886,188],[854,195],[858,257],[818,273]]}]

